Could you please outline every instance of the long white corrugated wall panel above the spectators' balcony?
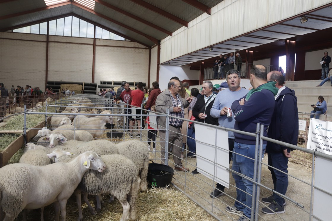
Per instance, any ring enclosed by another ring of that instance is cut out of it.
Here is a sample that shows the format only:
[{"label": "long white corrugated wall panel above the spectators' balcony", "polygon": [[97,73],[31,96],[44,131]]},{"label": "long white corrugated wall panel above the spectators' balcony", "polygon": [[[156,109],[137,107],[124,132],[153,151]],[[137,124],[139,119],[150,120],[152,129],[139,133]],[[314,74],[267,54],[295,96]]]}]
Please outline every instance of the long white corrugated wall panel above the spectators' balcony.
[{"label": "long white corrugated wall panel above the spectators' balcony", "polygon": [[[161,41],[160,63],[330,3],[331,0],[224,0]],[[231,19],[231,22],[230,22]],[[332,54],[332,53],[331,53]]]}]

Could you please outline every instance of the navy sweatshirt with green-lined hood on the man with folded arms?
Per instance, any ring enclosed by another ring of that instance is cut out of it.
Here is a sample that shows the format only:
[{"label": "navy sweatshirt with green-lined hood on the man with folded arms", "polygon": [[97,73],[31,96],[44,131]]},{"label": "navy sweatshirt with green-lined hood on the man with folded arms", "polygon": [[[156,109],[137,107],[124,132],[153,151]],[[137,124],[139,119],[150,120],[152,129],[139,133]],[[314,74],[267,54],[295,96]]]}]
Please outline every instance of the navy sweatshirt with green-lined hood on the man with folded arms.
[{"label": "navy sweatshirt with green-lined hood on the man with folded arms", "polygon": [[[249,93],[242,97],[245,98],[244,105],[240,105],[239,101],[235,100],[232,104],[232,111],[234,114],[235,125],[234,129],[250,133],[256,133],[256,124],[264,125],[264,136],[267,136],[267,127],[271,123],[271,117],[274,111],[275,99],[278,88],[275,82],[268,82],[258,86],[256,89],[251,89]],[[256,138],[248,135],[243,135],[234,132],[235,142],[255,145]],[[263,140],[263,144],[267,144]]]}]

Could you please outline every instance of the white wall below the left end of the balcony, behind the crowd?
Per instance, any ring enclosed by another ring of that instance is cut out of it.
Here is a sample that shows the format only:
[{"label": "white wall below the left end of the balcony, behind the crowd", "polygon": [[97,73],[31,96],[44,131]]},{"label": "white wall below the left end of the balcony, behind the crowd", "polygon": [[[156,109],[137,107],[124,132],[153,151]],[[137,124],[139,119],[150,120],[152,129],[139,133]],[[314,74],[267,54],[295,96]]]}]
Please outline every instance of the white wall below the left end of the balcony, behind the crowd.
[{"label": "white wall below the left end of the balcony, behind the crowd", "polygon": [[190,70],[187,66],[160,65],[159,88],[164,90],[172,77],[178,77],[180,81],[185,79],[200,80],[200,71]]}]

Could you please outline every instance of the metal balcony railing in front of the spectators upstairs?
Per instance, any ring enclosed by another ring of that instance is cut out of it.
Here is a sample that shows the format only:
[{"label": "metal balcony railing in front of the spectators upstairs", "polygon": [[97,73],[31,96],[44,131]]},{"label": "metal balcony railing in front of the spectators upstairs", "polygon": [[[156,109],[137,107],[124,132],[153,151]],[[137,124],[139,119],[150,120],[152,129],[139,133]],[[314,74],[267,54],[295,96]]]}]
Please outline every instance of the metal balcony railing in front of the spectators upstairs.
[{"label": "metal balcony railing in front of the spectators upstairs", "polygon": [[[233,64],[233,65],[225,65],[223,67],[210,67],[204,69],[204,80],[213,80],[213,79],[223,79],[226,78],[226,73],[231,70],[235,69],[240,72],[241,78],[248,79],[249,78],[249,72],[250,68],[253,65],[257,64],[248,64],[248,63],[242,63],[242,64]],[[271,66],[271,65],[263,65],[266,67],[266,71],[269,73],[270,71],[277,71],[279,69],[278,66]]]}]

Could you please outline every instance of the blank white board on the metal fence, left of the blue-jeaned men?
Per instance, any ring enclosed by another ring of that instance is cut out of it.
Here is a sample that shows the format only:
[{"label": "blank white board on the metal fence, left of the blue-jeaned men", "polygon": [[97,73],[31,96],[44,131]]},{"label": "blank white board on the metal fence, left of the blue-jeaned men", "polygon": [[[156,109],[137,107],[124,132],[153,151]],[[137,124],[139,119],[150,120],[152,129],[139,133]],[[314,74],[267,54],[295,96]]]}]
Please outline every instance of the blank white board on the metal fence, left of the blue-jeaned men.
[{"label": "blank white board on the metal fence, left of the blue-jeaned men", "polygon": [[[207,178],[229,188],[227,131],[195,124],[195,137],[197,171]],[[213,179],[213,177],[216,178]]]}]

